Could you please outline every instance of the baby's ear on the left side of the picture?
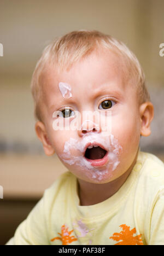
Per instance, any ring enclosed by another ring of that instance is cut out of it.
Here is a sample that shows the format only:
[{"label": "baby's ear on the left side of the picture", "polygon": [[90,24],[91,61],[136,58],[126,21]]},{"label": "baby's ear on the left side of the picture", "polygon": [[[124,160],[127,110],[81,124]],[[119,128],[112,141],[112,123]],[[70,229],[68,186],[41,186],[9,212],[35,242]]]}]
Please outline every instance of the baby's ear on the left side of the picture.
[{"label": "baby's ear on the left side of the picture", "polygon": [[51,146],[51,143],[48,139],[48,136],[45,130],[45,125],[42,122],[38,121],[35,125],[35,129],[36,129],[36,133],[39,140],[43,144],[45,154],[48,156],[53,155],[55,153],[55,150]]}]

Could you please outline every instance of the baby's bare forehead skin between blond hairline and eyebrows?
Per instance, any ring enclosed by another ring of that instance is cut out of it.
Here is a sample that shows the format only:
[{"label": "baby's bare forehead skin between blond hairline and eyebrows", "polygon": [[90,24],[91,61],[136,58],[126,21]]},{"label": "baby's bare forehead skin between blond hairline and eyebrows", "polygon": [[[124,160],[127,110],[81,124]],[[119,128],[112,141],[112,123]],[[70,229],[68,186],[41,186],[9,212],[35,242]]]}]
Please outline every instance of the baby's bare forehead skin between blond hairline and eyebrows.
[{"label": "baby's bare forehead skin between blond hairline and eyebrows", "polygon": [[[93,90],[126,89],[127,72],[121,57],[112,51],[94,51],[89,56],[75,63],[71,68],[49,66],[42,75],[42,90],[44,100],[50,102],[50,97],[55,95],[58,100],[62,97],[58,87],[59,83],[71,85],[74,94],[92,94]],[[61,98],[62,100],[62,98]]]}]

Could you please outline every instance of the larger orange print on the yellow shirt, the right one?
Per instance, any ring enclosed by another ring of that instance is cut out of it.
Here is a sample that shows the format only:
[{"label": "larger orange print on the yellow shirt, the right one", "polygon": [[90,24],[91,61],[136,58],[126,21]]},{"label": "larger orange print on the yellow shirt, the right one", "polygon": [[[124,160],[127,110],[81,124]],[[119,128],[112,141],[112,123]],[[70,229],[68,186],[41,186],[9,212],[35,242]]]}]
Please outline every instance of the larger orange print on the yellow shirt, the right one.
[{"label": "larger orange print on the yellow shirt, the right one", "polygon": [[122,231],[120,233],[114,233],[113,236],[110,236],[109,239],[113,239],[114,241],[120,241],[115,245],[143,245],[141,234],[138,236],[133,236],[136,234],[136,229],[130,230],[130,226],[126,224],[120,226]]}]

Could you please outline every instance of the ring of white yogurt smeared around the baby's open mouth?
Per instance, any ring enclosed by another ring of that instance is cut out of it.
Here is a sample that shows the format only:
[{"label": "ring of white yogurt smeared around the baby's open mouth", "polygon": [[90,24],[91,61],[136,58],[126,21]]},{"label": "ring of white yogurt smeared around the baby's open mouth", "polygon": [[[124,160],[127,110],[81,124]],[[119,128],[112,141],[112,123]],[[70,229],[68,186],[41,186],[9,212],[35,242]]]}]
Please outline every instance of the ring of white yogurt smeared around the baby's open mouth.
[{"label": "ring of white yogurt smeared around the baby's open mouth", "polygon": [[[87,159],[84,157],[84,150],[87,143],[102,144],[102,146],[108,151],[108,161],[104,166],[95,167],[92,166]],[[71,151],[76,152],[72,154]],[[112,172],[119,165],[119,153],[122,150],[122,147],[119,145],[118,139],[114,138],[114,136],[108,135],[106,137],[102,137],[99,134],[91,133],[84,135],[81,141],[77,139],[70,138],[65,142],[65,147],[63,150],[63,154],[58,155],[63,162],[66,162],[68,165],[77,165],[83,168],[86,172],[87,177],[92,178],[93,180],[101,181],[104,175]]]}]

